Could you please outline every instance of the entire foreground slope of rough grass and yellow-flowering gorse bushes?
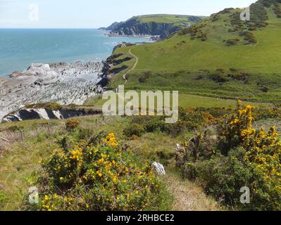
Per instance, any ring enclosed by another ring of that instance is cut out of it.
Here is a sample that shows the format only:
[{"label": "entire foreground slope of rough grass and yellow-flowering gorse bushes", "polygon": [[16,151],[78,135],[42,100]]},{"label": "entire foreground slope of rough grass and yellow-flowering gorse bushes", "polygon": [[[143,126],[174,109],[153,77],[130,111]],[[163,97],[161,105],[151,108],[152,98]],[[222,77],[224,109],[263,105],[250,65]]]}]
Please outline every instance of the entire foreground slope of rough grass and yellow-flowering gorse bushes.
[{"label": "entire foreground slope of rough grass and yellow-flowering gorse bushes", "polygon": [[[279,148],[277,132],[281,127],[272,126],[278,124],[280,117],[277,106],[254,108],[239,103],[239,108],[181,108],[179,121],[170,125],[165,124],[163,117],[101,115],[79,117],[74,122],[32,120],[0,124],[1,136],[10,141],[1,144],[1,207],[2,210],[225,210],[228,207],[276,210],[279,202],[273,190],[278,187],[279,167],[273,165],[277,166],[275,160],[279,156],[273,149]],[[69,129],[67,124],[75,125]],[[23,131],[23,139],[19,130]],[[180,143],[178,150],[177,143]],[[258,157],[266,161],[252,158],[254,149],[261,149]],[[113,160],[120,167],[105,169]],[[154,161],[164,165],[166,176],[152,173],[151,181],[144,179],[141,180],[144,183],[135,186],[139,172],[145,178]],[[214,172],[206,173],[210,170]],[[110,172],[119,174],[119,183],[112,183]],[[257,177],[261,183],[254,182]],[[152,181],[158,188],[150,189]],[[105,189],[95,188],[101,184]],[[181,202],[179,208],[175,199],[182,198],[182,192],[171,190],[177,184],[185,184],[182,188],[194,201],[191,205]],[[142,192],[146,185],[147,193]],[[39,205],[27,202],[30,186],[39,187]],[[252,205],[239,203],[242,186],[251,188]],[[194,191],[189,192],[188,188]],[[126,190],[132,193],[130,202]],[[193,193],[201,195],[203,202],[198,202]],[[100,196],[102,208],[95,205],[97,199],[93,196]],[[267,202],[270,200],[274,200],[271,205]]]}]

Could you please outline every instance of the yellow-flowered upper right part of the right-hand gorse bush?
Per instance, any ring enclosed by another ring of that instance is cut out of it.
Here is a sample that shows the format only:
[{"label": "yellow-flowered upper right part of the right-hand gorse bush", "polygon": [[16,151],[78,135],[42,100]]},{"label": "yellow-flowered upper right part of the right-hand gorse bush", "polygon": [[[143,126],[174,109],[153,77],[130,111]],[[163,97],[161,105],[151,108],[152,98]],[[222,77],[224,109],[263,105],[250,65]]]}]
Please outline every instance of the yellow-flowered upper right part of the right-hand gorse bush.
[{"label": "yellow-flowered upper right part of the right-hand gorse bush", "polygon": [[239,137],[246,150],[245,162],[250,167],[258,169],[263,180],[273,185],[274,190],[281,195],[281,142],[276,127],[270,127],[268,131],[261,127],[258,131],[253,127],[254,106],[242,107],[241,101],[238,101],[237,105],[237,115],[228,123],[230,129],[224,135],[232,134]]}]

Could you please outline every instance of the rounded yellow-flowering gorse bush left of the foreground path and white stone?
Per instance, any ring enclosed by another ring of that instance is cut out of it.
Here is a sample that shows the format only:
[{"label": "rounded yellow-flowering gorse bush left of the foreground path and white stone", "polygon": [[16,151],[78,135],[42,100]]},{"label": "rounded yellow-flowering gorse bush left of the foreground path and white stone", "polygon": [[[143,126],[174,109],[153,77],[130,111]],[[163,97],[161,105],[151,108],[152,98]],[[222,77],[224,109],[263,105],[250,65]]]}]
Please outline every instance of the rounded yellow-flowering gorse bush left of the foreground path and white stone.
[{"label": "rounded yellow-flowering gorse bush left of the foreground path and white stone", "polygon": [[42,164],[41,210],[144,210],[156,204],[161,180],[149,162],[123,151],[114,134],[66,146]]}]

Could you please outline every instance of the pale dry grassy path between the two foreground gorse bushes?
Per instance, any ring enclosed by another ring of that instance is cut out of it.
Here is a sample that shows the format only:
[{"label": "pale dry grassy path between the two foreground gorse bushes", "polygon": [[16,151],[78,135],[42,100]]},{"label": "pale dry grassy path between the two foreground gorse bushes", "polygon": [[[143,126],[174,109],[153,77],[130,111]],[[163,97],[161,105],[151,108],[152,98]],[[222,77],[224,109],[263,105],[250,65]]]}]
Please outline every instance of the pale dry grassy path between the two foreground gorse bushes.
[{"label": "pale dry grassy path between the two foreground gorse bushes", "polygon": [[192,181],[182,180],[177,174],[166,175],[168,190],[174,201],[173,211],[220,211],[222,207],[213,198],[205,195],[204,191]]}]

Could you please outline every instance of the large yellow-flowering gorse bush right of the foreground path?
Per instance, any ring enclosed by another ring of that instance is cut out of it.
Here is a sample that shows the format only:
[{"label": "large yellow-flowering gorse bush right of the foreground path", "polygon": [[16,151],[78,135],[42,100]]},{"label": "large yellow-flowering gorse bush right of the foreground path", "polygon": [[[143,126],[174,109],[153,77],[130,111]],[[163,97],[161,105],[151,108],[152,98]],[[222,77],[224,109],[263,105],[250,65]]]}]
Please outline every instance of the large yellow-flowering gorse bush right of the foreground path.
[{"label": "large yellow-flowering gorse bush right of the foreground path", "polygon": [[[237,113],[218,126],[216,138],[197,136],[177,158],[185,177],[199,179],[206,193],[245,210],[281,210],[281,141],[275,127],[255,129],[254,107],[238,102]],[[216,140],[216,141],[214,141]],[[251,203],[240,203],[240,188]]]}]

